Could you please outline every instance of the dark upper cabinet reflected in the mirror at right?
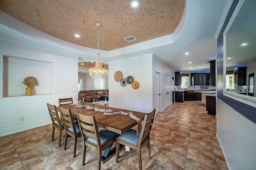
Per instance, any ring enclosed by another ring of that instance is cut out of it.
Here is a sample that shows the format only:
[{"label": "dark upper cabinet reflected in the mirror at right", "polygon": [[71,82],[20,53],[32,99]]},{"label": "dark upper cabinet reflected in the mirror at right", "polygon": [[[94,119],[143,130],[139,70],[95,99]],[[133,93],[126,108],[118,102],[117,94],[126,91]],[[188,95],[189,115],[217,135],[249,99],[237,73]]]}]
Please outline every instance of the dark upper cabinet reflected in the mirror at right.
[{"label": "dark upper cabinet reflected in the mirror at right", "polygon": [[246,67],[234,68],[234,84],[246,86]]}]

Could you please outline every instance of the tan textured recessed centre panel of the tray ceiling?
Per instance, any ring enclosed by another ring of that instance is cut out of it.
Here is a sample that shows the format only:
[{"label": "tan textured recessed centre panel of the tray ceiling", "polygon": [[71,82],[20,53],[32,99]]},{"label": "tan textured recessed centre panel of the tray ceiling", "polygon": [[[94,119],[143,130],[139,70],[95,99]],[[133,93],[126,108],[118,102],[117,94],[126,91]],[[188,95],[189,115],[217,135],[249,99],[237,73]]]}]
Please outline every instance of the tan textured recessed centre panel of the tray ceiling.
[{"label": "tan textured recessed centre panel of the tray ceiling", "polygon": [[[1,0],[0,10],[59,39],[111,51],[172,34],[182,18],[185,0]],[[76,38],[78,33],[81,37]],[[127,42],[126,37],[137,40]]]}]

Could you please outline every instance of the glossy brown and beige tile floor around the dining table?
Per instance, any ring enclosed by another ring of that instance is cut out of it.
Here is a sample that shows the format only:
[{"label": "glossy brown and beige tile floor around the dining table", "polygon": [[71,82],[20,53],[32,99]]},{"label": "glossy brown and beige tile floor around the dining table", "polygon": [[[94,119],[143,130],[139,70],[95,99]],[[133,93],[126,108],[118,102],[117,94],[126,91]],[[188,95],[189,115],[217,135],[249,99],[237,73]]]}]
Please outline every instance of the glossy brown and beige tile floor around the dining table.
[{"label": "glossy brown and beige tile floor around the dining table", "polygon": [[[94,170],[97,151],[86,150],[86,165],[82,166],[82,138],[78,139],[76,157],[73,158],[73,139],[64,140],[58,147],[58,131],[51,141],[51,125],[22,131],[0,138],[1,170]],[[144,170],[223,170],[228,169],[216,138],[216,118],[208,115],[201,101],[174,103],[158,113],[151,135],[151,159],[146,146],[142,148]],[[137,152],[120,151],[101,165],[105,170],[138,169]]]}]

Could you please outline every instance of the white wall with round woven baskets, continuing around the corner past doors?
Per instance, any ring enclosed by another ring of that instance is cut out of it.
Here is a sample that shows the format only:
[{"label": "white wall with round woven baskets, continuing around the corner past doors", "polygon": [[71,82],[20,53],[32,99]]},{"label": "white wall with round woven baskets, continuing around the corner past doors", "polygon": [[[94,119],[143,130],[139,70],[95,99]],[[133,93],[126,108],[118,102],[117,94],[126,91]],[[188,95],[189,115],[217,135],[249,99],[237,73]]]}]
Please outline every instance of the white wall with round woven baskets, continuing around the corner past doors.
[{"label": "white wall with round woven baskets, continuing around the corner past doors", "polygon": [[[160,61],[153,54],[141,55],[130,59],[122,59],[109,62],[109,106],[149,113],[154,109],[155,71],[160,72],[161,93],[164,94],[164,74],[174,76],[174,69]],[[121,71],[123,78],[133,76],[140,87],[133,89],[131,84],[125,87],[114,80],[116,71]],[[172,83],[172,82],[170,82]],[[113,93],[112,93],[113,92]],[[172,94],[171,97],[172,99]],[[160,111],[164,108],[164,95],[161,95]]]}]

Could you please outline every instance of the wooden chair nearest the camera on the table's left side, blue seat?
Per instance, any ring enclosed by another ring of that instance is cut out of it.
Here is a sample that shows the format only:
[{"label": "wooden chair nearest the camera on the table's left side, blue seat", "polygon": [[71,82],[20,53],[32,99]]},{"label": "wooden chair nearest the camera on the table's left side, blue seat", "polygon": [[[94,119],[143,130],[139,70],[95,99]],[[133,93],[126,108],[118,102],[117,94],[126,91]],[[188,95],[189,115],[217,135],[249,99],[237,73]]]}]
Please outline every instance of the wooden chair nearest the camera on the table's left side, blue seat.
[{"label": "wooden chair nearest the camera on the table's left side, blue seat", "polygon": [[98,170],[101,167],[102,150],[110,149],[116,141],[118,134],[101,129],[98,131],[95,117],[92,115],[82,115],[77,113],[78,124],[83,138],[83,158],[82,164],[85,165],[86,146],[98,150]]}]

